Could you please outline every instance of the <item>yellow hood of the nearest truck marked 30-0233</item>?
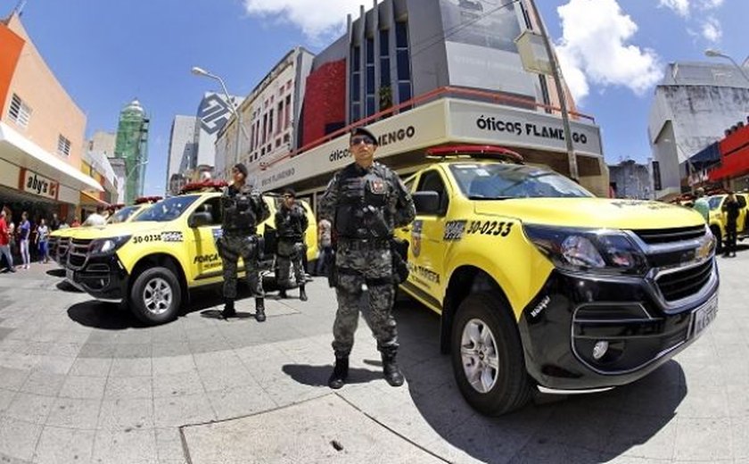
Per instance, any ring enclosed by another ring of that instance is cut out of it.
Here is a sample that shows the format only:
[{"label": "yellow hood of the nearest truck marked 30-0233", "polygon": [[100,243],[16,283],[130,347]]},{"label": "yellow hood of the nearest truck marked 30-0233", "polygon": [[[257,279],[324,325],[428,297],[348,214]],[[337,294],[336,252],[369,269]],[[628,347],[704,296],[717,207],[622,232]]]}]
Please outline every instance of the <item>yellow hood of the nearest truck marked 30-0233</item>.
[{"label": "yellow hood of the nearest truck marked 30-0233", "polygon": [[704,225],[700,213],[668,203],[609,198],[514,198],[478,201],[477,214],[569,228],[683,228]]}]

